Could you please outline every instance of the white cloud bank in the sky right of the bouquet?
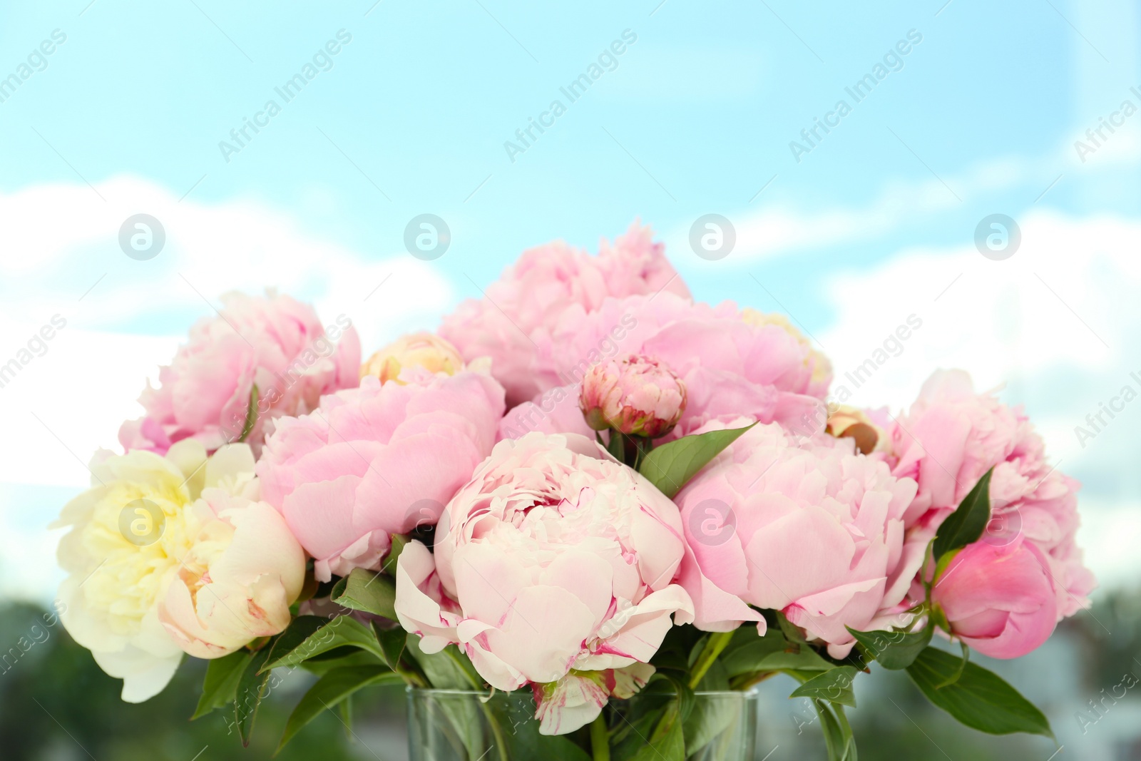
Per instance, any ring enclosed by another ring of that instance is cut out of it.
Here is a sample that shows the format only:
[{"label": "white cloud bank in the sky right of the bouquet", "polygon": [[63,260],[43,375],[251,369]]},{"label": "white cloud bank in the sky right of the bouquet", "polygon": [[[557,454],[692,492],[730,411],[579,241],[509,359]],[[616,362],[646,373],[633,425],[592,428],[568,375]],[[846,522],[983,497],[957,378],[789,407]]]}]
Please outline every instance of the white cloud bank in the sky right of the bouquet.
[{"label": "white cloud bank in the sky right of the bouquet", "polygon": [[[1141,371],[1141,221],[1039,212],[1019,224],[1021,246],[1004,261],[973,246],[908,250],[833,276],[827,301],[839,311],[818,333],[836,371],[833,394],[843,386],[851,403],[896,413],[939,367],[969,371],[978,390],[1005,386],[1000,397],[1029,406],[1051,461],[1085,480],[1079,542],[1102,585],[1123,583],[1141,570],[1141,489],[1128,476],[1141,402],[1085,447],[1074,429],[1124,383],[1141,391],[1130,377]],[[922,327],[857,387],[847,373],[912,314]]]}]

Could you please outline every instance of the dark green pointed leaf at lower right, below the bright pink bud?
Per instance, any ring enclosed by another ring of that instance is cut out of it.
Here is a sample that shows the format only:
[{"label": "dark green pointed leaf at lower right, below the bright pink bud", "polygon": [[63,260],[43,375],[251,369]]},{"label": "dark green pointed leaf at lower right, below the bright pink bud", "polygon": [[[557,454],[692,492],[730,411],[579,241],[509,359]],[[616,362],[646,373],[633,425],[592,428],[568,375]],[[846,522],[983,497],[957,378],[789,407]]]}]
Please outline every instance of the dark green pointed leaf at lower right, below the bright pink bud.
[{"label": "dark green pointed leaf at lower right, below the bright pink bud", "polygon": [[929,701],[972,729],[990,735],[1054,736],[1042,711],[997,674],[978,664],[965,664],[956,682],[939,689],[938,686],[950,679],[960,666],[963,666],[961,658],[929,647],[907,666],[907,675]]}]

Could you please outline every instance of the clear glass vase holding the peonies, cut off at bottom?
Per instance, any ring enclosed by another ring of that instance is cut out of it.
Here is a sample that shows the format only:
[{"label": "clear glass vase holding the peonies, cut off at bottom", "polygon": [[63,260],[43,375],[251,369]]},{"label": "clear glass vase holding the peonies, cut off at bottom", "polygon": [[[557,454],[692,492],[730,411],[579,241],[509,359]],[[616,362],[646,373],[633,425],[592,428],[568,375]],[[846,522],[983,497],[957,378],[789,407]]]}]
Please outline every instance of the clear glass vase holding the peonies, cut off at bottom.
[{"label": "clear glass vase holding the peonies, cut off at bottom", "polygon": [[[610,759],[632,758],[648,742],[656,718],[670,705],[665,695],[612,701]],[[685,721],[689,761],[751,761],[756,743],[755,693],[697,693]],[[534,761],[598,758],[590,727],[549,737],[539,734],[529,691],[487,693],[408,689],[411,761]]]}]

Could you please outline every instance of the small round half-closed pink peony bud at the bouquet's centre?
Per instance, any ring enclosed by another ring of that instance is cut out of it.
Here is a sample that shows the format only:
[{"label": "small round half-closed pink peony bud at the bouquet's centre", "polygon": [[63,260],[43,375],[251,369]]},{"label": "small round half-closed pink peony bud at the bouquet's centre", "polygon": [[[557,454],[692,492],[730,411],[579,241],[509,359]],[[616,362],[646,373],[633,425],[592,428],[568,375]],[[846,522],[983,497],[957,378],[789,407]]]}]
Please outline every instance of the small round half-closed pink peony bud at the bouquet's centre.
[{"label": "small round half-closed pink peony bud at the bouquet's centre", "polygon": [[594,430],[665,436],[686,410],[686,384],[664,363],[630,355],[599,362],[582,379],[578,406]]}]

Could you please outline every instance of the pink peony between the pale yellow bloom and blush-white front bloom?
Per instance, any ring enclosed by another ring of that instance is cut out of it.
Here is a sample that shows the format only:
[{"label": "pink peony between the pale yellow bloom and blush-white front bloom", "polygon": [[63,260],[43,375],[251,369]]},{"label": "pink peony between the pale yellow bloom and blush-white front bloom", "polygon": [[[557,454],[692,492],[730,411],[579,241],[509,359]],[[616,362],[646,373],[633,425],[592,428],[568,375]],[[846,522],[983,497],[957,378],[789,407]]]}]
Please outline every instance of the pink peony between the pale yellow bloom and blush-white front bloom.
[{"label": "pink peony between the pale yellow bloom and blush-white front bloom", "polygon": [[489,375],[407,367],[283,418],[258,462],[262,499],[316,559],[318,580],[379,568],[391,534],[435,523],[487,456],[503,415]]}]

